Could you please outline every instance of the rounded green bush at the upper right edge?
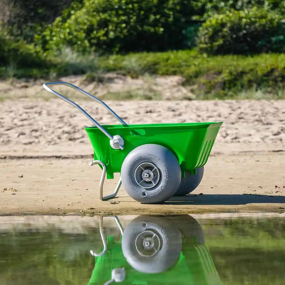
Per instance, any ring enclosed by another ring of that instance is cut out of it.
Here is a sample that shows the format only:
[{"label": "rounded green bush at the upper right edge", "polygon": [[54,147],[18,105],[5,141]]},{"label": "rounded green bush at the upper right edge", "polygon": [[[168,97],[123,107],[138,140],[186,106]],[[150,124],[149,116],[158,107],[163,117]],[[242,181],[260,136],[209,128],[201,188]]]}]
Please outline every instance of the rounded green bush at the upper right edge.
[{"label": "rounded green bush at the upper right edge", "polygon": [[266,9],[227,11],[207,19],[198,32],[198,48],[208,54],[284,52],[282,17]]}]

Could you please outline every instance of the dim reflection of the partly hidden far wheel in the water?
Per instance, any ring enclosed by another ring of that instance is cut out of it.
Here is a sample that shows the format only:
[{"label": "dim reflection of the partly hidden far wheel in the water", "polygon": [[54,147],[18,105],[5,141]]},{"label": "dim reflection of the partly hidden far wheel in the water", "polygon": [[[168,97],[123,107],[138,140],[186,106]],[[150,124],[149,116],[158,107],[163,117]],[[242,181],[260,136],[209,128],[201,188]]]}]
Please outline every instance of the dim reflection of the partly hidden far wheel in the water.
[{"label": "dim reflection of the partly hidden far wheel in the water", "polygon": [[201,225],[190,215],[169,215],[168,219],[180,230],[182,238],[185,238],[187,243],[190,243],[190,241],[201,245],[205,243]]}]

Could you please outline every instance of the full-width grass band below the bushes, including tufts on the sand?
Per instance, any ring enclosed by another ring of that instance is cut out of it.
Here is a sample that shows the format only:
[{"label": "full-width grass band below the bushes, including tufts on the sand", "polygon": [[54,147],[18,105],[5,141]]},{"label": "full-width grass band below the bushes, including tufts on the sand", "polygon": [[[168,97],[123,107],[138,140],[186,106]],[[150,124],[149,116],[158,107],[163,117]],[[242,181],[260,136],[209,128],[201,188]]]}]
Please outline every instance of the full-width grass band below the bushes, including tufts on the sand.
[{"label": "full-width grass band below the bushes, including tufts on the sand", "polygon": [[[152,80],[154,75],[179,75],[192,86],[196,99],[285,99],[285,54],[207,56],[196,49],[101,56],[82,55],[64,48],[49,55],[52,68],[0,67],[2,78],[45,78],[86,74],[86,81],[102,82],[100,74],[117,72]],[[155,99],[157,92],[135,90],[108,93],[106,99]]]}]

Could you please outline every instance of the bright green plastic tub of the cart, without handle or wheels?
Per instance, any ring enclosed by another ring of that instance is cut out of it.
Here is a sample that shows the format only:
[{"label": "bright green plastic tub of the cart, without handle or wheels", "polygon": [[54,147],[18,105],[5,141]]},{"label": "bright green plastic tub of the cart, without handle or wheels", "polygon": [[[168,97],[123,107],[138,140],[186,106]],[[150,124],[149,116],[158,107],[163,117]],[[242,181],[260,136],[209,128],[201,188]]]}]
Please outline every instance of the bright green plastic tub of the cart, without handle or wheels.
[{"label": "bright green plastic tub of the cart, without handle or wheels", "polygon": [[[122,163],[134,148],[143,144],[159,144],[177,157],[182,176],[205,165],[222,122],[148,124],[148,125],[103,125],[111,135],[121,136],[124,149],[113,149],[109,139],[97,127],[85,128],[94,149],[94,159],[106,165],[107,178],[121,172]],[[155,160],[155,157],[154,157]]]}]

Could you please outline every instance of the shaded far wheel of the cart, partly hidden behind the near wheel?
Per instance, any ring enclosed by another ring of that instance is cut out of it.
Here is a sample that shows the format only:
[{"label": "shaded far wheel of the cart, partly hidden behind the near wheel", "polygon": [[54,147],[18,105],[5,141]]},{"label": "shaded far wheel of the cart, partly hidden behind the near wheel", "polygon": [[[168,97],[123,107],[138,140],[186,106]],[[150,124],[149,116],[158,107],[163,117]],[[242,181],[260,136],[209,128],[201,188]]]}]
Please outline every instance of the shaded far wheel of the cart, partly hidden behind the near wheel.
[{"label": "shaded far wheel of the cart, partly hidden behind the near wheel", "polygon": [[204,174],[204,166],[197,168],[196,174],[190,174],[189,171],[185,171],[185,177],[181,178],[181,182],[178,190],[174,196],[183,196],[194,191],[200,184]]}]

